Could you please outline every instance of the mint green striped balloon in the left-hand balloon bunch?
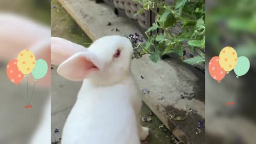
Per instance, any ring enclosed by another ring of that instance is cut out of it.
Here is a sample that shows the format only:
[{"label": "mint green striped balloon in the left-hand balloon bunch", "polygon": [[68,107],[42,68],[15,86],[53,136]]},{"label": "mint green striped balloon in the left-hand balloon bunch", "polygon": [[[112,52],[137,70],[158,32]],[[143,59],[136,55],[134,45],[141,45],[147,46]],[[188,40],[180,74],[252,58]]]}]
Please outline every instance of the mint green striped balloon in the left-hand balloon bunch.
[{"label": "mint green striped balloon in the left-hand balloon bunch", "polygon": [[43,78],[48,70],[47,62],[45,60],[36,60],[36,66],[34,70],[32,71],[32,75],[35,78],[35,81],[37,79]]}]

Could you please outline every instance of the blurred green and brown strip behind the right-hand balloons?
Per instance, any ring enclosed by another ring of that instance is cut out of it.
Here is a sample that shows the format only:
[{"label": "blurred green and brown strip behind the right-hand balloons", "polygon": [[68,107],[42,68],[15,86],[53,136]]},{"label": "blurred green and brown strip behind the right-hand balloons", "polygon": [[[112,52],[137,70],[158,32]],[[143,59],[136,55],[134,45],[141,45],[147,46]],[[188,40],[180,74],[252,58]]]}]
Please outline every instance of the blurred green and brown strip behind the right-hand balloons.
[{"label": "blurred green and brown strip behind the right-hand balloons", "polygon": [[[217,83],[206,70],[206,143],[255,143],[256,1],[206,0],[206,65],[226,47],[249,58],[249,72]],[[229,82],[230,80],[230,82]],[[229,90],[230,84],[230,90]],[[234,94],[233,94],[234,93]],[[234,102],[234,105],[227,105]]]}]

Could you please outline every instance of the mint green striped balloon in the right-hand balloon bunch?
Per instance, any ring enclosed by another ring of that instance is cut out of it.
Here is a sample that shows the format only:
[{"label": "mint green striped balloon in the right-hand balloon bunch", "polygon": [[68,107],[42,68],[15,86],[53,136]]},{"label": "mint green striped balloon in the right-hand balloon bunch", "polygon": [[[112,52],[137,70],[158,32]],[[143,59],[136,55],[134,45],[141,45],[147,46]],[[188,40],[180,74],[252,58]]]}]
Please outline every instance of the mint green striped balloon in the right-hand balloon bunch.
[{"label": "mint green striped balloon in the right-hand balloon bunch", "polygon": [[248,58],[241,56],[238,58],[236,67],[234,68],[234,71],[236,73],[236,77],[245,75],[250,69],[250,61]]}]

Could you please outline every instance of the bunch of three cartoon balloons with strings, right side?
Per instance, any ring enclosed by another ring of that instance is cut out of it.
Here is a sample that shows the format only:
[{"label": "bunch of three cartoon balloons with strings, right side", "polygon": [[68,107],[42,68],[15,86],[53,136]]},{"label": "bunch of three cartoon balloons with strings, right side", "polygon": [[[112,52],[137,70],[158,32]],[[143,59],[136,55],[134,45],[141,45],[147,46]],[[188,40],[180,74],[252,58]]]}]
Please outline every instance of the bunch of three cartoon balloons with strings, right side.
[{"label": "bunch of three cartoon balloons with strings, right side", "polygon": [[[235,95],[236,85],[238,78],[244,76],[250,69],[250,61],[248,58],[241,56],[238,58],[236,50],[233,47],[224,47],[219,57],[213,57],[209,62],[209,73],[215,81],[218,83],[225,77],[226,74],[229,76],[229,87],[230,87],[230,71],[234,69],[236,74],[236,84],[233,94]],[[230,89],[229,89],[230,90]],[[228,102],[227,105],[234,105],[234,102]]]}]

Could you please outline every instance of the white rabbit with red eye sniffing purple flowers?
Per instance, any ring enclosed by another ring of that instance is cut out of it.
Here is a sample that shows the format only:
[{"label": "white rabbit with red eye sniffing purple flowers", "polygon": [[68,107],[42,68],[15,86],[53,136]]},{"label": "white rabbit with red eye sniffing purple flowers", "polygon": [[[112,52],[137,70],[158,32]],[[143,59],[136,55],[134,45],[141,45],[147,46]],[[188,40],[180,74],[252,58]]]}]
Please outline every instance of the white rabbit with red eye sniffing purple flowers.
[{"label": "white rabbit with red eye sniffing purple flowers", "polygon": [[58,73],[83,81],[62,133],[62,144],[139,144],[141,98],[130,65],[128,38],[106,36],[61,63]]}]

